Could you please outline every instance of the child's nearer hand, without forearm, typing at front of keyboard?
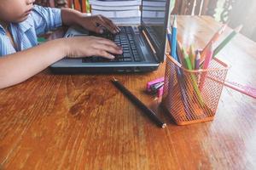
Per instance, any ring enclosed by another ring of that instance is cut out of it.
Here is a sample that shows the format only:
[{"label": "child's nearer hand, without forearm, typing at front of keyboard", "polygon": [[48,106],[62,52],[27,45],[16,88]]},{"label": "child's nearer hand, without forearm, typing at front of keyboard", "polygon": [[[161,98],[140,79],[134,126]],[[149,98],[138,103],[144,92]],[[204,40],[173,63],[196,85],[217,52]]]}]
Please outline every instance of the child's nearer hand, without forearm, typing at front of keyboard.
[{"label": "child's nearer hand, without forearm, typing at front of keyboard", "polygon": [[90,57],[93,55],[114,59],[113,54],[122,54],[122,48],[114,42],[102,37],[69,37],[64,41],[67,45],[67,57]]}]

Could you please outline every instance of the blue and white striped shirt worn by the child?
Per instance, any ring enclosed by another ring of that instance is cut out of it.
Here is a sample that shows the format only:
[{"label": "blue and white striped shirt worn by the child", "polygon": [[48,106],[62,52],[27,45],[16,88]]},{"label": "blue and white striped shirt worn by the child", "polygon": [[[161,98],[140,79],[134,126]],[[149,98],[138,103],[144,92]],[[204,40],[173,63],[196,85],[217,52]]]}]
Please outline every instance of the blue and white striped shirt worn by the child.
[{"label": "blue and white striped shirt worn by the child", "polygon": [[9,31],[14,37],[16,49],[13,47],[6,31],[0,25],[0,57],[14,54],[38,44],[37,36],[62,25],[61,9],[44,8],[35,5],[32,14],[20,23],[11,23]]}]

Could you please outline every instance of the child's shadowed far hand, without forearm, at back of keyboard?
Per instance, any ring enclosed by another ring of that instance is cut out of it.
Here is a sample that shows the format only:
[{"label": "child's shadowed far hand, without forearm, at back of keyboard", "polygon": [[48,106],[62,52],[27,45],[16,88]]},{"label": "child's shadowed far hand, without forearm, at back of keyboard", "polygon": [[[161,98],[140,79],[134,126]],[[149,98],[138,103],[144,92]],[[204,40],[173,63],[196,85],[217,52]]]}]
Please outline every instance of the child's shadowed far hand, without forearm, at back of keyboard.
[{"label": "child's shadowed far hand, without forearm, at back of keyboard", "polygon": [[113,34],[120,31],[119,27],[114,25],[112,20],[109,20],[100,14],[82,17],[79,25],[83,26],[86,30],[95,31],[96,33],[103,33],[103,27]]}]

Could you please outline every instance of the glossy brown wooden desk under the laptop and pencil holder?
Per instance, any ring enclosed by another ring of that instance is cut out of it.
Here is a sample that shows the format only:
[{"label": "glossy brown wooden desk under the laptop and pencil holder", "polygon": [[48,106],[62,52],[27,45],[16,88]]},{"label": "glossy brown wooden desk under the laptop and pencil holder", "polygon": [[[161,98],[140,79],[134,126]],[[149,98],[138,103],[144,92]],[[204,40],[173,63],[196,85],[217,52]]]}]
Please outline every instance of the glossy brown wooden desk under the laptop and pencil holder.
[{"label": "glossy brown wooden desk under the laptop and pencil holder", "polygon": [[[202,48],[220,24],[178,17],[179,39]],[[221,54],[228,79],[256,85],[256,44],[238,35]],[[144,94],[158,71],[52,75],[43,71],[0,90],[0,163],[6,169],[255,169],[256,100],[224,88],[213,122],[177,126]],[[156,127],[109,82],[117,77],[150,105]],[[1,169],[1,168],[0,168]]]}]

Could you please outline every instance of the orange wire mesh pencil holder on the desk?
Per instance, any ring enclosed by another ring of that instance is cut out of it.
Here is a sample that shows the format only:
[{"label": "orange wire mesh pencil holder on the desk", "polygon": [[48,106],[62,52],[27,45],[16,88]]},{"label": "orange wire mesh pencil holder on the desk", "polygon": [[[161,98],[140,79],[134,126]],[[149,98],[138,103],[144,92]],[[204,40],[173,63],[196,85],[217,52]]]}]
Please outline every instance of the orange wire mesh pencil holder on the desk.
[{"label": "orange wire mesh pencil holder on the desk", "polygon": [[189,71],[167,55],[161,104],[177,125],[213,120],[228,70],[224,62],[212,59],[207,70]]}]

